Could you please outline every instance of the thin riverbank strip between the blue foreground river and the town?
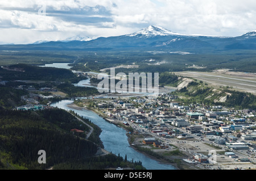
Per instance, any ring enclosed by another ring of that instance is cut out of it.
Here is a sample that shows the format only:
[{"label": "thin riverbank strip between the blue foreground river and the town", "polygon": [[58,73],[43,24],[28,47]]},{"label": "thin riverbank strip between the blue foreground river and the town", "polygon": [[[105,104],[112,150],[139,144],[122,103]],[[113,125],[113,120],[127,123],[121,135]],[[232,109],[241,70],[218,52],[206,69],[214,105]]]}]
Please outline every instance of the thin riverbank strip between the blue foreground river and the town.
[{"label": "thin riverbank strip between the blue foreground river and the town", "polygon": [[[67,107],[75,109],[75,110],[89,110],[92,111],[94,113],[96,113],[97,115],[101,116],[104,120],[108,121],[109,123],[112,123],[118,127],[121,127],[123,129],[125,129],[125,131],[127,132],[126,136],[127,136],[127,140],[129,142],[129,145],[132,149],[134,149],[135,151],[137,151],[138,153],[142,153],[144,155],[146,155],[147,157],[154,159],[156,162],[160,163],[160,164],[164,164],[164,165],[171,165],[173,167],[175,167],[175,170],[180,170],[180,169],[184,169],[184,170],[189,170],[190,168],[188,166],[184,166],[184,164],[179,164],[177,165],[176,163],[170,163],[168,162],[168,159],[164,159],[164,158],[156,158],[153,155],[150,155],[148,153],[145,153],[144,151],[140,151],[138,148],[136,148],[136,146],[133,144],[133,142],[131,140],[133,140],[133,136],[131,134],[129,134],[129,129],[127,129],[126,127],[120,125],[120,123],[118,121],[110,121],[108,119],[106,119],[106,117],[102,116],[99,112],[92,110],[90,108],[86,108],[86,107],[79,107],[77,106],[75,103],[71,103],[68,104]],[[170,159],[169,159],[170,160]],[[171,161],[171,160],[170,160]],[[182,162],[182,161],[181,161]]]}]

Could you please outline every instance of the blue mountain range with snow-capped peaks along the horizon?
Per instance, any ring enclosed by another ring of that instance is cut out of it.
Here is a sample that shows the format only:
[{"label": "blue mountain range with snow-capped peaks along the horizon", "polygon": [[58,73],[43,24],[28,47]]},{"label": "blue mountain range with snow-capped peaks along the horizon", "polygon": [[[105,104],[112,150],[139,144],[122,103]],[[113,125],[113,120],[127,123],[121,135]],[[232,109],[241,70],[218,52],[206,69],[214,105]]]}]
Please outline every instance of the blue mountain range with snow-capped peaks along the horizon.
[{"label": "blue mountain range with snow-capped peaks along the horizon", "polygon": [[122,36],[72,37],[62,41],[38,42],[28,45],[0,45],[0,49],[33,50],[153,50],[170,52],[220,52],[226,50],[255,50],[256,31],[237,37],[183,35],[158,26]]}]

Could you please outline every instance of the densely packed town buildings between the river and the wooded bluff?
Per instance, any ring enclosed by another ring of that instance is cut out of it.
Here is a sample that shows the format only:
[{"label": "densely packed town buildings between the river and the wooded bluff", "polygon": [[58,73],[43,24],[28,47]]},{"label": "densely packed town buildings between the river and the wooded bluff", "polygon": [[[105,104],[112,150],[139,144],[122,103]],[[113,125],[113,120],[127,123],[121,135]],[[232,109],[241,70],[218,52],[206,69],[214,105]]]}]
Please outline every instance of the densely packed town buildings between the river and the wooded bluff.
[{"label": "densely packed town buildings between the river and the wooded bluff", "polygon": [[186,140],[193,138],[192,134],[226,145],[229,149],[255,150],[250,142],[245,144],[246,141],[256,140],[255,110],[201,104],[184,106],[175,102],[171,95],[162,95],[158,99],[112,99],[107,103],[98,103],[97,107],[105,109],[104,112],[113,119],[123,120],[127,125],[130,121],[137,123],[160,137]]}]

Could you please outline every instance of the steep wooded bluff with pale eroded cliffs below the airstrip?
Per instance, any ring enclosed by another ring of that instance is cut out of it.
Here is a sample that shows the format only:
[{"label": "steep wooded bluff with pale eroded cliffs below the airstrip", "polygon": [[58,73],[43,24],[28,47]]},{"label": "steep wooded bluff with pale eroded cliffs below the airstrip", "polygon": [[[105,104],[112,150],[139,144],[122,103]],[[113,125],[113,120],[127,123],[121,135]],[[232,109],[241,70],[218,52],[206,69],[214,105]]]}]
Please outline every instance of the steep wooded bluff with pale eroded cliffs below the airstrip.
[{"label": "steep wooded bluff with pale eroded cliffs below the airstrip", "polygon": [[205,86],[202,81],[193,81],[179,91],[172,92],[179,95],[180,101],[186,106],[191,103],[203,103],[208,106],[221,105],[239,109],[256,109],[256,96],[248,92],[240,92],[221,87],[214,89]]}]

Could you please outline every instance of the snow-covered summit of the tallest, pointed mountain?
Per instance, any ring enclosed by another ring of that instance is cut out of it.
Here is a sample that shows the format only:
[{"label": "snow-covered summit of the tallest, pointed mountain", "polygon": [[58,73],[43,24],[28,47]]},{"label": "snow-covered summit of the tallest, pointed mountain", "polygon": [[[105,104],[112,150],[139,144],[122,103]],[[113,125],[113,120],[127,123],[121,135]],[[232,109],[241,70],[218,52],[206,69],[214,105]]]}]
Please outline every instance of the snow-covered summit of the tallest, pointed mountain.
[{"label": "snow-covered summit of the tallest, pointed mountain", "polygon": [[138,32],[131,33],[127,36],[154,37],[154,36],[170,36],[170,35],[181,35],[181,34],[172,32],[170,30],[167,30],[166,28],[151,25],[146,28],[143,28]]}]

